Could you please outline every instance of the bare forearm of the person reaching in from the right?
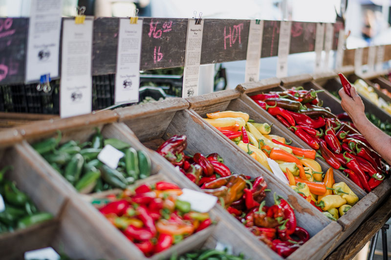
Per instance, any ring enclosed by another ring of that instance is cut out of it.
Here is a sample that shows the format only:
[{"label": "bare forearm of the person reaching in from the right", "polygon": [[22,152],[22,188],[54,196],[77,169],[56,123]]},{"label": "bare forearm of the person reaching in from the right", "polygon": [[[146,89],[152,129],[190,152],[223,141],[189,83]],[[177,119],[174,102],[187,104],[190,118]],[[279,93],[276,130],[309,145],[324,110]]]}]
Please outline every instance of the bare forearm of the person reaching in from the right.
[{"label": "bare forearm of the person reaching in from the right", "polygon": [[380,156],[391,163],[391,137],[373,125],[367,117],[357,117],[354,125]]}]

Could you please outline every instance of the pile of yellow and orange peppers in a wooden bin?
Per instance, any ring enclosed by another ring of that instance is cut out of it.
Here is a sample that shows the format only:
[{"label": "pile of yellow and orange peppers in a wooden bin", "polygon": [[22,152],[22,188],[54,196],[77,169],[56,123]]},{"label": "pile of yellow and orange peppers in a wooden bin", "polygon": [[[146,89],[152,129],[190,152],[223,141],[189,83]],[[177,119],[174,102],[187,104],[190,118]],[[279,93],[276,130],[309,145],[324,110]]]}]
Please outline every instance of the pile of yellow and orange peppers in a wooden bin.
[{"label": "pile of yellow and orange peppers in a wooden bin", "polygon": [[359,200],[345,182],[335,183],[332,168],[323,174],[315,150],[288,145],[283,137],[270,134],[272,125],[254,122],[238,111],[209,113],[207,117],[204,120],[329,219],[338,220]]}]

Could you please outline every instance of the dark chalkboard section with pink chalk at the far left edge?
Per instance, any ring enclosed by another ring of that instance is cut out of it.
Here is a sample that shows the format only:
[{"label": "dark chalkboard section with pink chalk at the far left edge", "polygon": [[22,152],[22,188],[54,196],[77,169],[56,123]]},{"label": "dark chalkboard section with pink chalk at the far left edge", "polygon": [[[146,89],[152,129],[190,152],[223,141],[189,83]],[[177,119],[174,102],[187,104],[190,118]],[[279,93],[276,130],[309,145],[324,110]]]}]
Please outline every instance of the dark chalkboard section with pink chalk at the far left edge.
[{"label": "dark chalkboard section with pink chalk at the far left edge", "polygon": [[27,18],[0,18],[0,85],[24,81]]}]

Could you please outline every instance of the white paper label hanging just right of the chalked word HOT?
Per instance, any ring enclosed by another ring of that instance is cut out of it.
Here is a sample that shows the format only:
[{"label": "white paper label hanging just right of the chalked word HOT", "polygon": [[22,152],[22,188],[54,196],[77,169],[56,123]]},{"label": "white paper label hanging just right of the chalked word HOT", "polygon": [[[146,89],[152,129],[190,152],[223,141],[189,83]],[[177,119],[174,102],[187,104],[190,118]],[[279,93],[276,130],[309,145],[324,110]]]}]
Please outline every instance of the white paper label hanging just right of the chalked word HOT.
[{"label": "white paper label hanging just right of the chalked word HOT", "polygon": [[259,24],[257,24],[256,20],[250,20],[244,82],[258,81],[260,79],[263,20],[258,21]]}]

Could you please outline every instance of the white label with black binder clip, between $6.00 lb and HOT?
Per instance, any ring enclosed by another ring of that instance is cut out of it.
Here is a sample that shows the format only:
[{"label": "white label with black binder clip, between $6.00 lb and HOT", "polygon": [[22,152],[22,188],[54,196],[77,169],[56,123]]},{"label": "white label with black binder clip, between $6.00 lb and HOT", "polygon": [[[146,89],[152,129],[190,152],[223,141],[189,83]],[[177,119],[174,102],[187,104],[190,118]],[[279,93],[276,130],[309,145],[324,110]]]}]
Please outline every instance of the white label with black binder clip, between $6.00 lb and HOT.
[{"label": "white label with black binder clip, between $6.00 lb and HOT", "polygon": [[204,20],[201,20],[201,24],[195,24],[195,19],[188,20],[182,98],[198,95],[198,76],[201,62],[203,29]]}]

